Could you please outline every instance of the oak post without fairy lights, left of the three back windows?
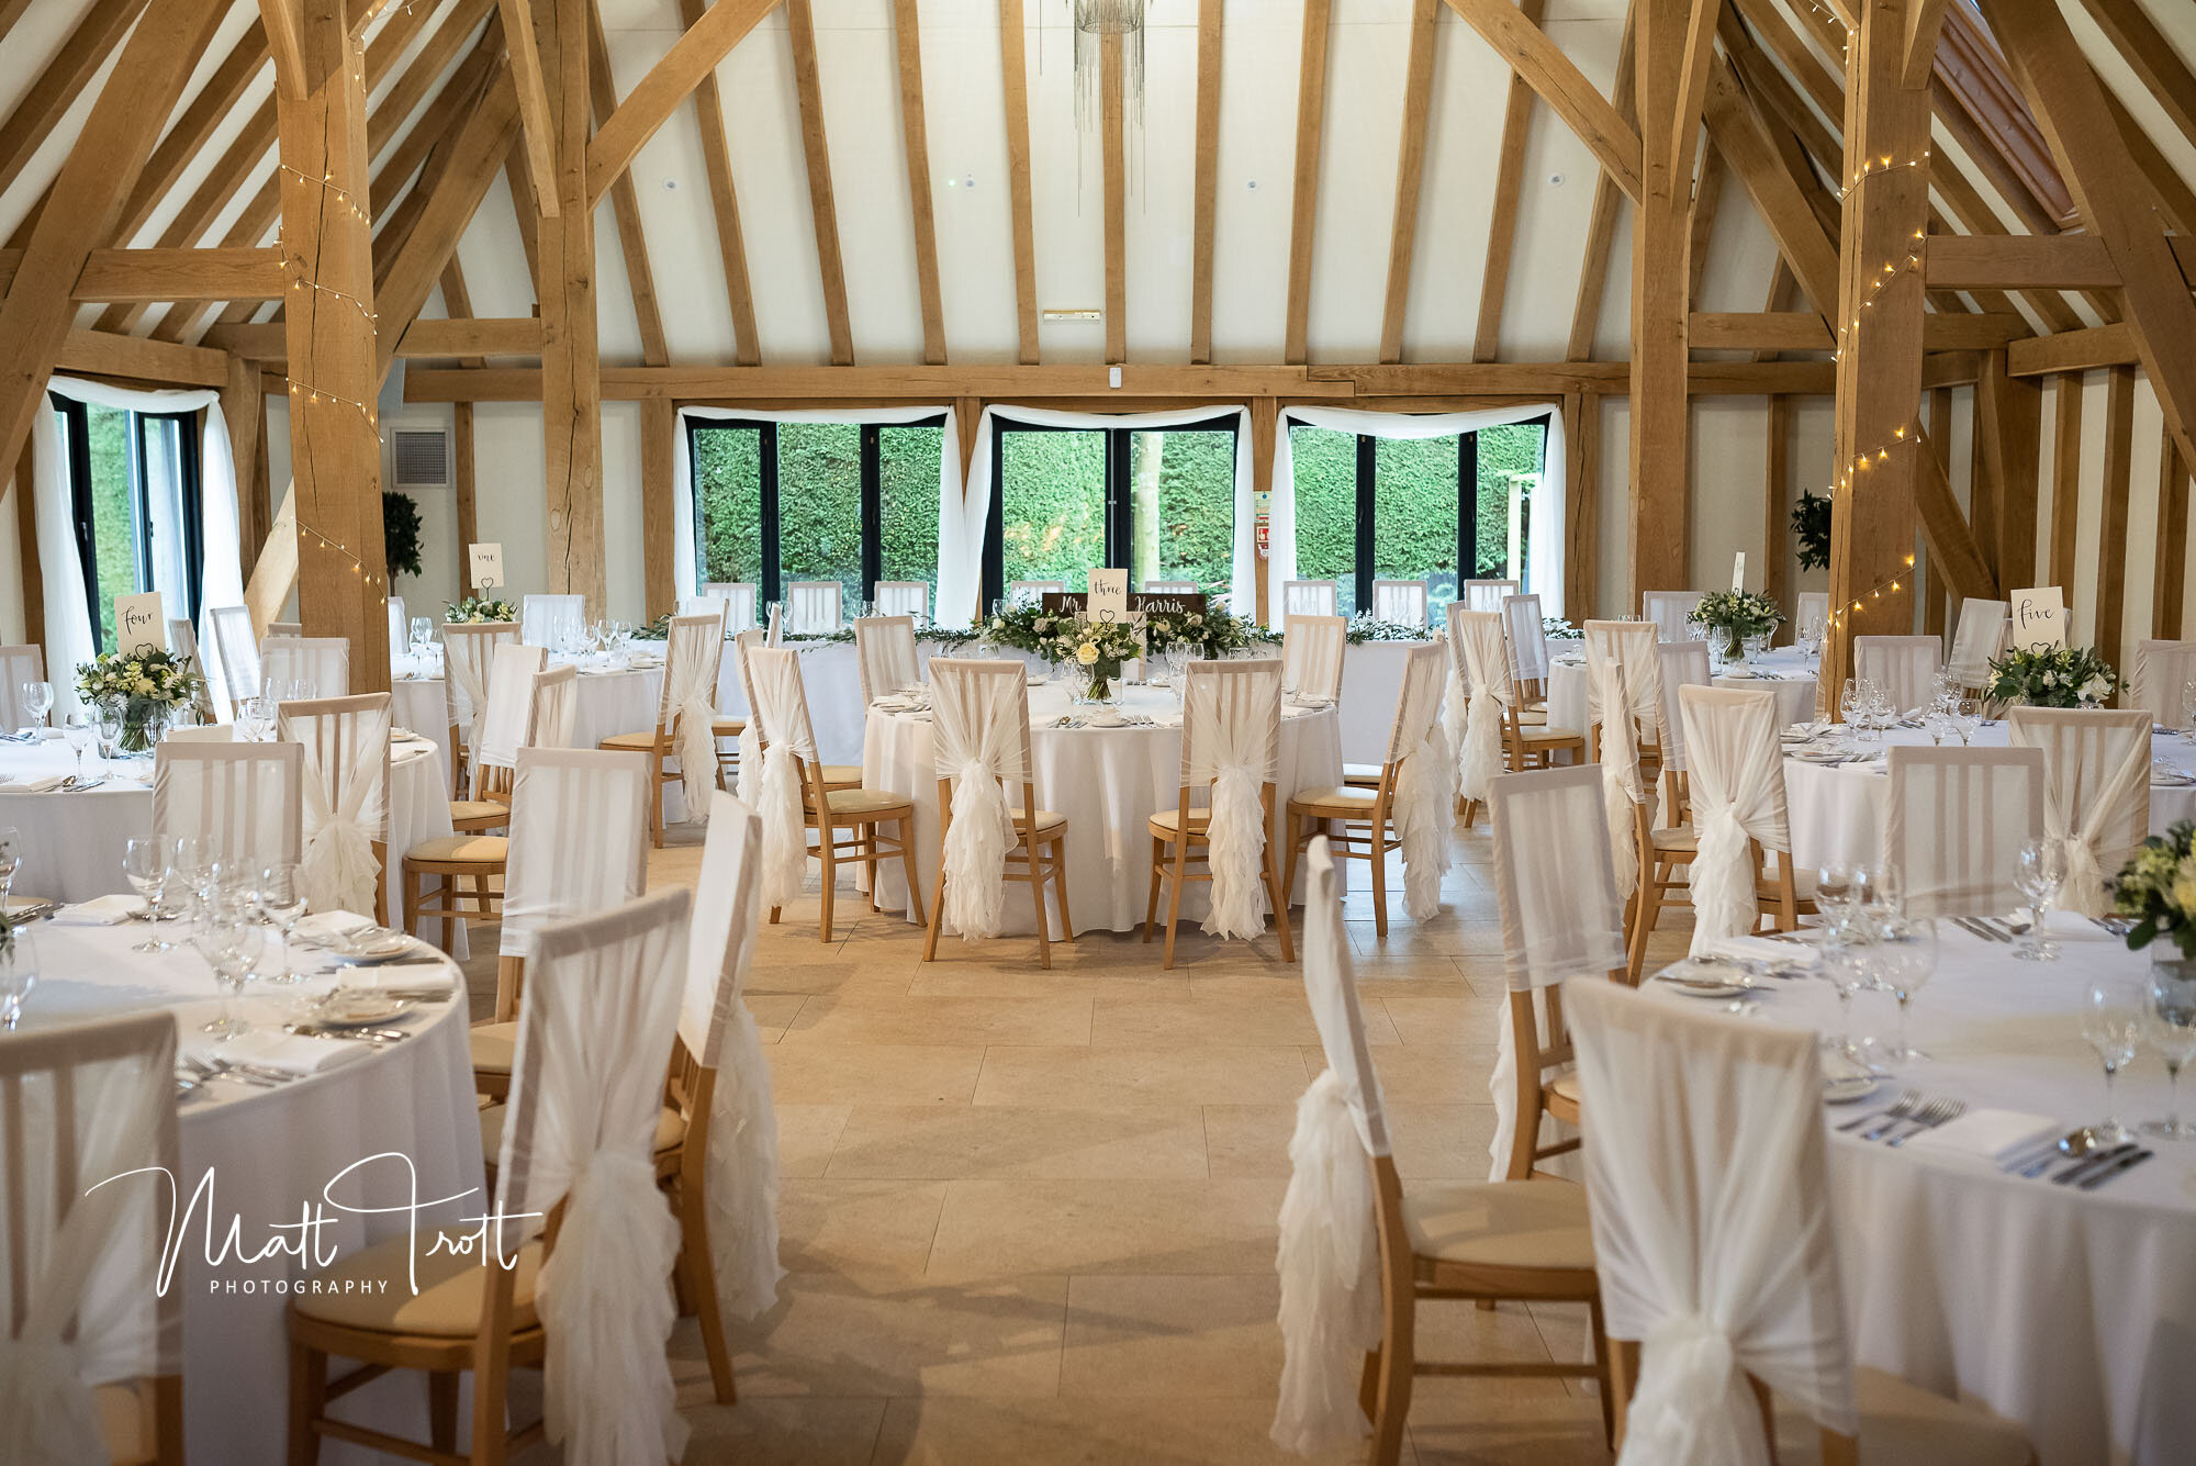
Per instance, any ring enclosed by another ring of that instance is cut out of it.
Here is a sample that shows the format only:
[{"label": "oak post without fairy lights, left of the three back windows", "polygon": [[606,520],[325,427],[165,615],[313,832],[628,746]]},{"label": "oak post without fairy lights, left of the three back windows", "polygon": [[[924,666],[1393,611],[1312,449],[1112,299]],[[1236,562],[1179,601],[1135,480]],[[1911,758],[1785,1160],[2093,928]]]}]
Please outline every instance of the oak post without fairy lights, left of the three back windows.
[{"label": "oak post without fairy lights, left of the three back windows", "polygon": [[558,213],[540,219],[542,465],[549,590],[602,614],[602,358],[595,347],[595,211],[586,204],[586,0],[540,0],[542,75],[556,119]]}]

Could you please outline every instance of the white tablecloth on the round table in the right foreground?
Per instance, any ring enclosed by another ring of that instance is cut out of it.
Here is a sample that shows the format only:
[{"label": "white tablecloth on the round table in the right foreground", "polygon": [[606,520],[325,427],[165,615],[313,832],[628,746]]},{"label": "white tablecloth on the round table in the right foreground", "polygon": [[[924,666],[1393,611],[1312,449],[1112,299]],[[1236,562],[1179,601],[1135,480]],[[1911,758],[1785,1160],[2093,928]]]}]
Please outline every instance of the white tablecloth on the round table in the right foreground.
[{"label": "white tablecloth on the round table in the right foreground", "polygon": [[[2104,1117],[2104,1078],[2082,1042],[2095,974],[2139,981],[2148,959],[2080,917],[2053,917],[2064,957],[2027,963],[2009,946],[1937,924],[1935,981],[1915,996],[1926,1064],[1831,1124],[1882,1110],[1904,1086],[1970,1108],[2044,1115],[2064,1135]],[[1836,1031],[1823,981],[1761,979],[1755,1012]],[[1667,983],[1649,992],[1678,996]],[[1856,1001],[1856,1031],[1891,1034],[1889,996]],[[2183,1095],[2185,1104],[2196,1100]],[[2165,1113],[2165,1073],[2143,1053],[2119,1080],[2119,1119]],[[1891,1150],[1831,1130],[1831,1209],[1860,1363],[1939,1394],[1972,1394],[2027,1424],[2044,1466],[2196,1459],[2196,1143],[2097,1192],[2001,1174],[1996,1165]]]}]

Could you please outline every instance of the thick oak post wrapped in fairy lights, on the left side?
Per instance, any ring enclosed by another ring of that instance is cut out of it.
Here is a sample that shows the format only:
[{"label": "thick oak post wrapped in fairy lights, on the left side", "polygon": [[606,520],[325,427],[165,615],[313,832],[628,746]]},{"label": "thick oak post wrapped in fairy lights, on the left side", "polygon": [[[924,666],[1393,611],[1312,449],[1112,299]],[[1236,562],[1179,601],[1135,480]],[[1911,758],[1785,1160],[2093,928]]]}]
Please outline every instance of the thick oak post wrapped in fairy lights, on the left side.
[{"label": "thick oak post wrapped in fairy lights, on the left side", "polygon": [[351,643],[351,691],[389,691],[367,86],[345,0],[305,0],[296,99],[277,94],[299,614]]}]

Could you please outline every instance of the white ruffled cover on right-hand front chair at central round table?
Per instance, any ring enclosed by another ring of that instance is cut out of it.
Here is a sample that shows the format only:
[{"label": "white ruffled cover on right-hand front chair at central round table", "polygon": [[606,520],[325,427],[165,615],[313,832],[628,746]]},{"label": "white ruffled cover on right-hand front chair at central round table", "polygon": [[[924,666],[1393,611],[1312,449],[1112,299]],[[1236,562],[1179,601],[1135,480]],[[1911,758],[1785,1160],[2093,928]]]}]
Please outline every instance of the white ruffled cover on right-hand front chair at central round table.
[{"label": "white ruffled cover on right-hand front chair at central round table", "polygon": [[1280,661],[1190,663],[1181,685],[1181,786],[1208,788],[1210,937],[1256,937],[1265,893],[1265,786],[1280,768]]}]

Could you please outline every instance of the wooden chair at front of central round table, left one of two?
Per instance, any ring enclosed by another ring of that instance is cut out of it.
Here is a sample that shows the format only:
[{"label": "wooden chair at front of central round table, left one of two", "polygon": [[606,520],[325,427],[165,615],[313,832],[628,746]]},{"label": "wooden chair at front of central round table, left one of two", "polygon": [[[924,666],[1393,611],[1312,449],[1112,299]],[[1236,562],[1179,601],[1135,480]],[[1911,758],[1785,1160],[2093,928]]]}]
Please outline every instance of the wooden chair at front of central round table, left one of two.
[{"label": "wooden chair at front of central round table, left one of two", "polygon": [[[856,623],[859,625],[859,623]],[[946,920],[949,852],[953,849],[953,801],[957,779],[990,779],[1015,830],[1015,843],[1001,856],[999,880],[1030,887],[1037,909],[1037,966],[1052,970],[1052,928],[1045,913],[1045,884],[1061,904],[1061,935],[1074,941],[1074,915],[1067,909],[1067,819],[1037,801],[1037,762],[1030,757],[1028,665],[1021,661],[933,663],[935,696],[933,746],[938,768],[938,887],[931,891],[929,933],[922,937],[922,961],[938,959],[938,933]],[[975,770],[982,766],[982,773]],[[977,799],[984,794],[977,792]],[[826,882],[830,878],[826,876]],[[870,882],[876,873],[872,867]],[[909,893],[914,893],[909,871]],[[1001,891],[1004,895],[1004,891]],[[914,900],[914,895],[909,898]],[[920,906],[916,906],[920,911]],[[968,933],[962,933],[964,937]]]}]

